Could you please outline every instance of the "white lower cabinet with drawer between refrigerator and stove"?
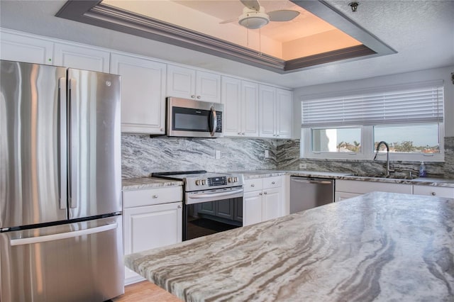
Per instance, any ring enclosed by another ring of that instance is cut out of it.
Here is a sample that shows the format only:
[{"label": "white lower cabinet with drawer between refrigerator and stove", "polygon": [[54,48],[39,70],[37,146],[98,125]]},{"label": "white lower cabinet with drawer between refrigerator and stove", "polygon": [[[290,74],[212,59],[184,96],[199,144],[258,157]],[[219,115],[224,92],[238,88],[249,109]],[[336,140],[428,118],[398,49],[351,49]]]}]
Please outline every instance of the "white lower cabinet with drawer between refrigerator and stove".
[{"label": "white lower cabinet with drawer between refrigerator and stove", "polygon": [[[125,255],[182,242],[181,186],[123,191],[123,207]],[[125,267],[126,285],[142,280]]]}]

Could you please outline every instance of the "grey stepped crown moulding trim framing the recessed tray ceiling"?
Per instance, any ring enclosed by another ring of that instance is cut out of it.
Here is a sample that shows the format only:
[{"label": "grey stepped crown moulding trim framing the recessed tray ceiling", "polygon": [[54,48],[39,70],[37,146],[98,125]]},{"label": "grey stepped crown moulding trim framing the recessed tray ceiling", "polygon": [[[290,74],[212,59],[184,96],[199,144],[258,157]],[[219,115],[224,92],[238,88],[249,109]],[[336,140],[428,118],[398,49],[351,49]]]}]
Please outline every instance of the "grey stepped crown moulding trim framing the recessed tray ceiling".
[{"label": "grey stepped crown moulding trim framing the recessed tray ceiling", "polygon": [[122,33],[138,35],[162,43],[186,47],[191,50],[224,57],[279,74],[314,68],[316,65],[333,64],[333,62],[339,60],[359,60],[360,57],[395,53],[395,50],[392,50],[391,47],[382,43],[363,28],[360,28],[358,24],[353,23],[353,21],[343,16],[339,11],[326,4],[325,1],[292,2],[311,11],[316,16],[322,15],[321,18],[329,20],[330,23],[332,23],[332,18],[334,20],[334,23],[332,23],[334,26],[359,40],[363,45],[284,61],[277,57],[272,57],[210,35],[175,26],[155,18],[131,13],[130,11],[117,9],[113,6],[102,4],[99,0],[67,1],[55,16],[93,26],[109,28]]}]

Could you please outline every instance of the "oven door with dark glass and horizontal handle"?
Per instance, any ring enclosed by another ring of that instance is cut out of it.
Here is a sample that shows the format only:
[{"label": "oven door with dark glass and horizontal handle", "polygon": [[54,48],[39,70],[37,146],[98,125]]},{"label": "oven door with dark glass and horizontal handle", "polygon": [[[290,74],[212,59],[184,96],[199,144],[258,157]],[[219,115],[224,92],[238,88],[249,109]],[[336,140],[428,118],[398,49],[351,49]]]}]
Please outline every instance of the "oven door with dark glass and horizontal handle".
[{"label": "oven door with dark glass and horizontal handle", "polygon": [[243,226],[243,187],[187,192],[183,240]]}]

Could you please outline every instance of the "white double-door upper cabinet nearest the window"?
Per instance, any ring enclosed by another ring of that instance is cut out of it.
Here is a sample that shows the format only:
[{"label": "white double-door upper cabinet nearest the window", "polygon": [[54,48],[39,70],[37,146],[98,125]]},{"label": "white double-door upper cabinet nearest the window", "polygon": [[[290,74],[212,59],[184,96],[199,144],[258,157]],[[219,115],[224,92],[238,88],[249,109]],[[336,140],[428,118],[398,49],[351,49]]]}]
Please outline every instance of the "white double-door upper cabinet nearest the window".
[{"label": "white double-door upper cabinet nearest the window", "polygon": [[292,91],[260,85],[260,137],[292,138]]}]

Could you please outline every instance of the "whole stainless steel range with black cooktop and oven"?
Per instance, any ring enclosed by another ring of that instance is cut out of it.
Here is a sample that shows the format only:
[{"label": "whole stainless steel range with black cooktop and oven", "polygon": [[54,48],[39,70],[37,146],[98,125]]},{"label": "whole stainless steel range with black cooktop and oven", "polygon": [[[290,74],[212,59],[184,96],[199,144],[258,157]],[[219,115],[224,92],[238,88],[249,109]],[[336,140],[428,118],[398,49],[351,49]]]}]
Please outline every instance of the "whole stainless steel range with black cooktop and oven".
[{"label": "whole stainless steel range with black cooktop and oven", "polygon": [[243,226],[243,174],[204,170],[153,173],[183,181],[183,238],[189,240]]}]

